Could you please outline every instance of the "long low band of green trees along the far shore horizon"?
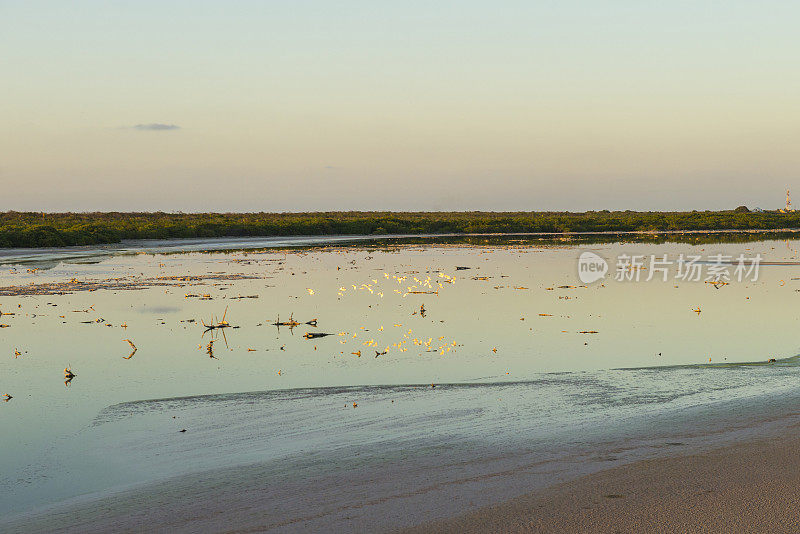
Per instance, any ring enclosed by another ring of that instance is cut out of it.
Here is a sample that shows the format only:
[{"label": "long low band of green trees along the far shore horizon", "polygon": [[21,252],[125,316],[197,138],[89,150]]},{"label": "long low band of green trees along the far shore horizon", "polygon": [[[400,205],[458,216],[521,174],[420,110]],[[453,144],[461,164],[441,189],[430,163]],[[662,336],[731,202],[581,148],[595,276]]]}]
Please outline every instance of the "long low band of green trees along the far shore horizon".
[{"label": "long low band of green trees along the far shore horizon", "polygon": [[315,212],[0,213],[0,248],[118,243],[123,239],[292,235],[778,230],[800,212]]}]

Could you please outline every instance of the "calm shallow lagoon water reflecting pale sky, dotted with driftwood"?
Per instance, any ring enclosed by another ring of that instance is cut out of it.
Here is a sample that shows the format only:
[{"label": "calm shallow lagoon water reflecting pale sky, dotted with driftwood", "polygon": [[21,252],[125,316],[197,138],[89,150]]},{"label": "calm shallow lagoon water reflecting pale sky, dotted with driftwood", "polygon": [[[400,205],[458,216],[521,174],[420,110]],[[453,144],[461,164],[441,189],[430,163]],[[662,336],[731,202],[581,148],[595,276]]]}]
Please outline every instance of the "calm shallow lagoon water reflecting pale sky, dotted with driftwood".
[{"label": "calm shallow lagoon water reflecting pale sky, dotted with driftwood", "polygon": [[[616,282],[612,266],[604,283],[582,286],[577,258],[758,252],[791,262],[795,246],[434,244],[8,266],[3,287],[121,277],[168,285],[0,297],[0,311],[14,313],[0,317],[10,325],[0,329],[0,393],[14,397],[0,404],[0,513],[253,466],[286,487],[355,484],[381,470],[496,475],[501,498],[677,443],[733,439],[800,396],[800,268],[765,265],[756,282],[715,289]],[[211,278],[164,280],[186,275]],[[214,278],[230,275],[239,276]],[[204,334],[200,322],[226,308],[238,328]],[[271,326],[290,314],[317,327]],[[212,335],[216,359],[207,354]],[[124,339],[138,347],[129,360]],[[69,387],[67,365],[77,373]],[[452,506],[486,502],[476,483],[454,486],[466,493]],[[314,502],[337,509],[339,497],[318,487]],[[280,499],[281,514],[307,513],[310,498]],[[429,517],[447,507],[434,508]]]}]

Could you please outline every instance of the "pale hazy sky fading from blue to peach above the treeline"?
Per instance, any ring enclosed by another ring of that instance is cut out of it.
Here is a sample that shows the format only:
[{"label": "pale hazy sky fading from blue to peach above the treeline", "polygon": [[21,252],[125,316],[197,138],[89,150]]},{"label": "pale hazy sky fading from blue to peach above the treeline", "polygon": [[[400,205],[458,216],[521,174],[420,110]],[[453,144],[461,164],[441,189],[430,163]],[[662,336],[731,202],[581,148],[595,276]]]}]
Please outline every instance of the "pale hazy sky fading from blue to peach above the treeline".
[{"label": "pale hazy sky fading from blue to peach above the treeline", "polygon": [[800,4],[0,0],[0,210],[800,202]]}]

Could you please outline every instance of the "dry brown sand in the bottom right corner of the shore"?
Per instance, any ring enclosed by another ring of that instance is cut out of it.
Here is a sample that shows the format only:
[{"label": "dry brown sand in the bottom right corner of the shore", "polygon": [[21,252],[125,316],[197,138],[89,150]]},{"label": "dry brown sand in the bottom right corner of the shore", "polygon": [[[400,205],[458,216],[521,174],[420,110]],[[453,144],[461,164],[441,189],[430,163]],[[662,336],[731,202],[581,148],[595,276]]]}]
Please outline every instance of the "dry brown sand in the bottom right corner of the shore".
[{"label": "dry brown sand in the bottom right corner of the shore", "polygon": [[796,533],[798,454],[794,427],[777,438],[601,471],[403,532]]}]

